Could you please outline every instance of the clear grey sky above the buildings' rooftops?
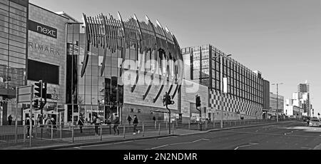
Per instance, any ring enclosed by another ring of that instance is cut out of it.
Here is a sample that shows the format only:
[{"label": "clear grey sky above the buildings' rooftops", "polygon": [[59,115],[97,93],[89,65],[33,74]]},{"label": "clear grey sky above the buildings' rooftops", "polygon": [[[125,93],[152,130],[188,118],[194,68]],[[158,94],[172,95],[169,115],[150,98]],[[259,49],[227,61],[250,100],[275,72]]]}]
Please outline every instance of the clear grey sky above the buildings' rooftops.
[{"label": "clear grey sky above the buildings' rooftops", "polygon": [[[50,11],[81,16],[136,14],[156,19],[181,48],[212,44],[270,83],[284,83],[279,93],[292,98],[298,83],[310,83],[315,116],[321,113],[320,0],[30,0]],[[270,86],[276,93],[276,87]]]}]

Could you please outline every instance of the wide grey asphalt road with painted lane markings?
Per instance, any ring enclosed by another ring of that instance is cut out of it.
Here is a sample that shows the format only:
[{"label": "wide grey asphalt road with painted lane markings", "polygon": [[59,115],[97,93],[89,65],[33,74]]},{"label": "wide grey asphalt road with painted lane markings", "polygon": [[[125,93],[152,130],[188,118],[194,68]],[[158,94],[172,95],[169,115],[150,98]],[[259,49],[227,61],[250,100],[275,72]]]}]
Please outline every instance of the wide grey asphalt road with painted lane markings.
[{"label": "wide grey asphalt road with painted lane markings", "polygon": [[313,150],[320,147],[321,128],[296,122],[65,150]]}]

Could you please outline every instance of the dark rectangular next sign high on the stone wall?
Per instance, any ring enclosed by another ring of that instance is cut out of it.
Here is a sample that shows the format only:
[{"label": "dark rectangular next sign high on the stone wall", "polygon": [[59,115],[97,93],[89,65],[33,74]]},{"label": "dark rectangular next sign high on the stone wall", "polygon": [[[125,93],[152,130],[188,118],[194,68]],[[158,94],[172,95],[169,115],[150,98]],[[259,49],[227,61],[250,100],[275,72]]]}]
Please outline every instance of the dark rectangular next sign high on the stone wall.
[{"label": "dark rectangular next sign high on the stone wall", "polygon": [[44,34],[46,36],[50,36],[54,39],[57,39],[57,29],[54,29],[52,27],[46,26],[44,24],[39,24],[35,21],[28,21],[28,29],[30,31],[34,31],[39,34]]}]

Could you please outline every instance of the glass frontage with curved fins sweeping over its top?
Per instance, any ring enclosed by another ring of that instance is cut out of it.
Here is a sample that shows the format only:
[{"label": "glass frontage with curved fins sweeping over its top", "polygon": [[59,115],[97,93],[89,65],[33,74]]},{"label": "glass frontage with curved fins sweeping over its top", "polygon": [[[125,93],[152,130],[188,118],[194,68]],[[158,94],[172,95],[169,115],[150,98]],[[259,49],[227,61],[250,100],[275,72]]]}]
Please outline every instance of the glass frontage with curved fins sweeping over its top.
[{"label": "glass frontage with curved fins sweeping over its top", "polygon": [[[91,121],[93,116],[105,121],[115,113],[122,116],[123,108],[127,108],[124,107],[125,83],[131,86],[131,94],[145,93],[138,101],[153,96],[153,103],[156,103],[161,100],[165,82],[178,83],[182,79],[183,62],[175,62],[182,61],[180,48],[168,29],[161,28],[159,23],[154,26],[149,19],[146,23],[138,21],[136,16],[128,21],[123,21],[120,14],[118,17],[119,20],[103,14],[94,17],[83,14],[84,24],[67,25],[69,122],[78,121],[78,116],[84,116],[85,121]],[[128,76],[128,72],[134,74]],[[154,80],[154,77],[157,78]],[[166,80],[161,82],[160,79]],[[142,80],[146,81],[141,83]],[[157,83],[161,83],[158,93],[151,93],[152,86]],[[144,91],[136,87],[138,85],[146,86]],[[173,89],[173,97],[178,86]]]}]

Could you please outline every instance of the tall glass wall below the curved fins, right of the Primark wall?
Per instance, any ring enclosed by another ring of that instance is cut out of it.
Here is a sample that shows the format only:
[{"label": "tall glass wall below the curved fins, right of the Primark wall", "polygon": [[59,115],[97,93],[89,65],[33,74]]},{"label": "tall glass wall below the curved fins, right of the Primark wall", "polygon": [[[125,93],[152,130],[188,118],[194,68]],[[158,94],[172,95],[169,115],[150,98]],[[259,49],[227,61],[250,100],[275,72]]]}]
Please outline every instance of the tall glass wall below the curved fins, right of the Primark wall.
[{"label": "tall glass wall below the curved fins, right of the Primark wall", "polygon": [[[90,46],[88,66],[84,76],[81,77],[86,43],[85,32],[82,24],[68,24],[67,29],[68,121],[72,121],[72,115],[74,121],[78,121],[78,116],[84,116],[86,121],[91,121],[93,115],[106,119],[112,116],[112,113],[119,113],[123,106],[123,83],[122,79],[118,78],[121,71],[121,51],[115,53],[107,51],[105,71],[101,76],[104,50],[101,47]],[[128,58],[130,57],[136,58],[129,56],[128,52]]]}]

